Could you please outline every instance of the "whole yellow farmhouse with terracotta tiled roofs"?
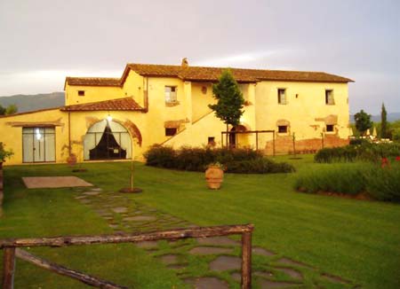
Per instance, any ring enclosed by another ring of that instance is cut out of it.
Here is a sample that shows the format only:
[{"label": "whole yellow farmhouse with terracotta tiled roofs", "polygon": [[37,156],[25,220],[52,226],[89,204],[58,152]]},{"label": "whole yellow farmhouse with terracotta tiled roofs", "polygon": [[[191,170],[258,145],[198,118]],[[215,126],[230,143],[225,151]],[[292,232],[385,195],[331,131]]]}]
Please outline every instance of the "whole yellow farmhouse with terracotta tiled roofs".
[{"label": "whole yellow farmhouse with terracotta tiled roofs", "polygon": [[[140,160],[152,144],[226,145],[209,104],[223,68],[127,64],[121,78],[67,77],[65,105],[0,118],[6,164]],[[348,144],[348,82],[323,72],[231,68],[243,91],[229,145],[266,154]],[[261,132],[268,130],[268,132]]]}]

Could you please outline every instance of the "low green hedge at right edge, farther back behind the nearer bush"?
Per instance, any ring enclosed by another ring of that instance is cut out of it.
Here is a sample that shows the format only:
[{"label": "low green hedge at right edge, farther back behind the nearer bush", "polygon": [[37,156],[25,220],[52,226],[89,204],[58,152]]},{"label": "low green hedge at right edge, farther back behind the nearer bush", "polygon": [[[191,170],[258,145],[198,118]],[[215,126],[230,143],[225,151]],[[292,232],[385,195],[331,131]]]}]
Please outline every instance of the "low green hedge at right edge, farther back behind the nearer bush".
[{"label": "low green hedge at right edge, farther back behind the nearer bush", "polygon": [[400,155],[400,144],[381,143],[347,145],[324,148],[314,156],[316,162],[380,161],[381,158],[396,158]]}]

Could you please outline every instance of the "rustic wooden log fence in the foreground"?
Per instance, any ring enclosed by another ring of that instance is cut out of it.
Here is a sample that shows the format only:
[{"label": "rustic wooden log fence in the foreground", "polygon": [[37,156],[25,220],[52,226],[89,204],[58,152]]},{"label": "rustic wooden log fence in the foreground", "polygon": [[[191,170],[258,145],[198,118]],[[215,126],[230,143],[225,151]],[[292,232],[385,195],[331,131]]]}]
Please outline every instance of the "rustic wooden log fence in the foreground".
[{"label": "rustic wooden log fence in the foreground", "polygon": [[56,263],[48,262],[33,254],[28,253],[25,250],[20,249],[21,247],[61,247],[91,244],[136,243],[143,241],[156,241],[161,239],[210,238],[217,236],[242,235],[242,288],[249,289],[252,285],[252,230],[252,224],[245,224],[164,230],[140,234],[132,233],[99,236],[0,239],[0,249],[3,249],[4,251],[4,272],[2,288],[13,288],[16,257],[30,262],[37,267],[51,270],[57,274],[66,277],[74,278],[86,285],[92,285],[94,287],[106,289],[127,288],[125,286],[116,285],[109,281],[102,280],[98,277],[92,277],[76,270],[68,269]]}]

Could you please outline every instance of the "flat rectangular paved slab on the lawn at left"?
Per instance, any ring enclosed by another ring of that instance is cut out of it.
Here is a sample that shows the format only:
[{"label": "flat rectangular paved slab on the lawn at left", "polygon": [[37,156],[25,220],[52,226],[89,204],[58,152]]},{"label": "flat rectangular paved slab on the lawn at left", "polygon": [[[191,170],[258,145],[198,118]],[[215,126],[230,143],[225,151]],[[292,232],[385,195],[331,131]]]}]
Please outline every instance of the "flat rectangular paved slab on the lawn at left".
[{"label": "flat rectangular paved slab on the lawn at left", "polygon": [[28,189],[54,189],[72,187],[92,187],[77,176],[24,176],[22,181]]}]

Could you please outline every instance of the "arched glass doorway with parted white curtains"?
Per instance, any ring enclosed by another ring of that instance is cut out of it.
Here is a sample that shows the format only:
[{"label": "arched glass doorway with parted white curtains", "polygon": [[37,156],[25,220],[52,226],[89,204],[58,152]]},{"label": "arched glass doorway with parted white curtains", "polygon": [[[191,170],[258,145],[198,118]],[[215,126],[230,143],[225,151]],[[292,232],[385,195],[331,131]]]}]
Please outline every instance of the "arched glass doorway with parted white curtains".
[{"label": "arched glass doorway with parted white curtains", "polygon": [[84,136],[84,160],[124,160],[132,158],[132,138],[116,121],[99,121]]}]

